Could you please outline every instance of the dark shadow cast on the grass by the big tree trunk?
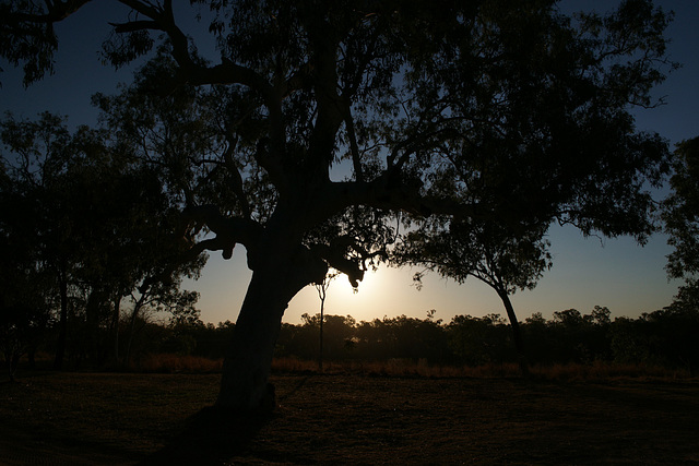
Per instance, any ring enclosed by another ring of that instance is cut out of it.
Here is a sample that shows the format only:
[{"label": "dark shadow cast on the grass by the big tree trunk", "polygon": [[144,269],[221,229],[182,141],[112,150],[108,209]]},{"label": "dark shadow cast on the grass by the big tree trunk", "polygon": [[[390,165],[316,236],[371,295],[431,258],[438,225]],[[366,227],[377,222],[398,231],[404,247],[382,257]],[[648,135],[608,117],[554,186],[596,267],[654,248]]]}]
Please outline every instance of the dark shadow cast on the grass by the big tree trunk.
[{"label": "dark shadow cast on the grass by the big tree trunk", "polygon": [[245,457],[248,445],[274,418],[208,407],[188,419],[185,430],[140,465],[224,465]]}]

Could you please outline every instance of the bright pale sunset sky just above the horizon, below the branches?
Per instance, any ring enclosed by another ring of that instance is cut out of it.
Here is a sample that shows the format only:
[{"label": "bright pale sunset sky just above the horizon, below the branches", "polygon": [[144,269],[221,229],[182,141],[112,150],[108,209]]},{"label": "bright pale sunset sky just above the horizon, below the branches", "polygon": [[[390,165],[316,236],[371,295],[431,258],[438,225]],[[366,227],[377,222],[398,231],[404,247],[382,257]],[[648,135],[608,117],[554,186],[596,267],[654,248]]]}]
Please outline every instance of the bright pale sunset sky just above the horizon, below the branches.
[{"label": "bright pale sunset sky just above the horizon, below the branches", "polygon": [[[654,236],[645,247],[629,238],[582,238],[572,227],[553,227],[549,235],[554,266],[534,290],[518,291],[512,302],[521,320],[534,312],[550,319],[555,311],[578,309],[590,313],[594,306],[606,306],[612,316],[638,316],[667,306],[676,294],[677,283],[668,283],[663,270],[671,249],[663,236]],[[328,289],[324,312],[352,315],[357,321],[405,314],[425,319],[431,309],[436,319],[449,322],[454,315],[483,316],[505,309],[496,292],[475,278],[459,285],[430,274],[422,290],[413,286],[417,270],[381,266],[369,272],[357,292],[346,276],[337,276]],[[245,249],[237,247],[234,258],[225,261],[212,253],[202,278],[186,287],[201,292],[202,320],[218,323],[234,321],[245,297],[250,271]],[[273,286],[273,284],[270,284]],[[284,322],[300,323],[304,313],[315,314],[320,300],[315,287],[303,289],[291,302]]]}]

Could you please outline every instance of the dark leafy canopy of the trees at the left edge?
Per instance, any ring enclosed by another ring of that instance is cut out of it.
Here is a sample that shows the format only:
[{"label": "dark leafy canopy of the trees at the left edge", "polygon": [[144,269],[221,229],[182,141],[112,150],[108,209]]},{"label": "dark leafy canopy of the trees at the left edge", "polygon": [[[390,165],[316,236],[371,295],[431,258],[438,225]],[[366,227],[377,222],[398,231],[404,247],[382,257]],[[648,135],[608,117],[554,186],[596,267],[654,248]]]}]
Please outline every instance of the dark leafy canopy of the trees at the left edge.
[{"label": "dark leafy canopy of the trees at the left edge", "polygon": [[[37,121],[0,120],[3,170],[0,247],[3,260],[0,310],[8,327],[26,334],[59,321],[56,366],[62,366],[69,318],[85,322],[82,351],[91,363],[116,359],[122,299],[132,299],[132,320],[143,304],[191,309],[198,294],[179,289],[182,276],[198,276],[205,256],[179,258],[187,244],[167,234],[178,222],[163,177],[109,144],[106,131],[74,132],[54,115]],[[164,275],[167,277],[164,278]],[[112,355],[88,348],[99,328],[114,334]],[[16,332],[15,332],[16,333]],[[15,351],[36,335],[17,335]]]}]

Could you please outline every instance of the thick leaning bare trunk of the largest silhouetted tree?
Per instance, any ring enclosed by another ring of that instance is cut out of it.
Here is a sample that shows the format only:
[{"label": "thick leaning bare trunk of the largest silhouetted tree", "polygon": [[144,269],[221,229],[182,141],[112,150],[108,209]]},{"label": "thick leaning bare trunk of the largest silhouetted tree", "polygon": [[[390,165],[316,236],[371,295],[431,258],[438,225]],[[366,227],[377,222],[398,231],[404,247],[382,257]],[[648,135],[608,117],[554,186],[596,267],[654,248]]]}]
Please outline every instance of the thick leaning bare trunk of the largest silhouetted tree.
[{"label": "thick leaning bare trunk of the largest silhouetted tree", "polygon": [[[305,248],[304,248],[305,250]],[[297,249],[297,251],[299,251]],[[288,301],[306,285],[322,279],[328,266],[300,254],[265,251],[252,278],[223,365],[216,406],[237,411],[274,408],[268,383],[274,346]]]}]

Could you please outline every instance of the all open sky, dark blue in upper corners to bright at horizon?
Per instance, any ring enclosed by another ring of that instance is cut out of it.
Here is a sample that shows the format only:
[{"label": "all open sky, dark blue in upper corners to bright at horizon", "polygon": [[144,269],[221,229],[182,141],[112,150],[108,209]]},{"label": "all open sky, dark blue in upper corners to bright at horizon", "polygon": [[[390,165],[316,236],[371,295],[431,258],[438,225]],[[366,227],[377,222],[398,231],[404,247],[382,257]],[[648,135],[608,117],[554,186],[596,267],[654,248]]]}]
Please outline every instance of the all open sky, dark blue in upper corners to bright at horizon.
[{"label": "all open sky, dark blue in upper corners to bright at horizon", "polygon": [[[561,9],[595,9],[604,12],[612,0],[564,0]],[[677,142],[699,135],[699,1],[656,0],[664,10],[675,12],[667,36],[670,57],[683,64],[655,89],[665,96],[666,105],[636,112],[640,130],[656,131]],[[107,21],[128,12],[115,2],[87,4],[73,17],[57,25],[59,52],[56,72],[25,89],[22,76],[8,63],[0,65],[0,112],[35,118],[44,110],[69,116],[71,126],[92,124],[97,111],[90,97],[96,92],[111,93],[119,82],[129,82],[133,68],[115,71],[102,65],[99,45],[108,33]],[[574,308],[590,313],[594,306],[605,306],[612,316],[636,318],[670,304],[678,282],[668,282],[664,266],[672,251],[663,235],[653,236],[641,248],[630,238],[583,238],[573,227],[553,226],[548,234],[554,266],[546,272],[534,290],[518,291],[512,303],[521,320],[534,312],[550,319],[555,311]],[[422,290],[413,286],[413,274],[419,270],[381,267],[368,273],[358,291],[353,292],[345,276],[329,287],[324,311],[352,315],[357,321],[407,315],[424,319],[436,310],[436,319],[449,322],[454,315],[505,315],[496,292],[475,278],[457,284],[436,275],[423,280]],[[199,309],[204,322],[235,321],[250,279],[245,249],[236,247],[234,256],[225,261],[212,253],[202,277],[187,280],[185,287],[201,294]],[[273,284],[271,284],[273,286]],[[299,323],[304,313],[319,312],[320,300],[315,287],[301,290],[286,310],[284,321]]]}]

